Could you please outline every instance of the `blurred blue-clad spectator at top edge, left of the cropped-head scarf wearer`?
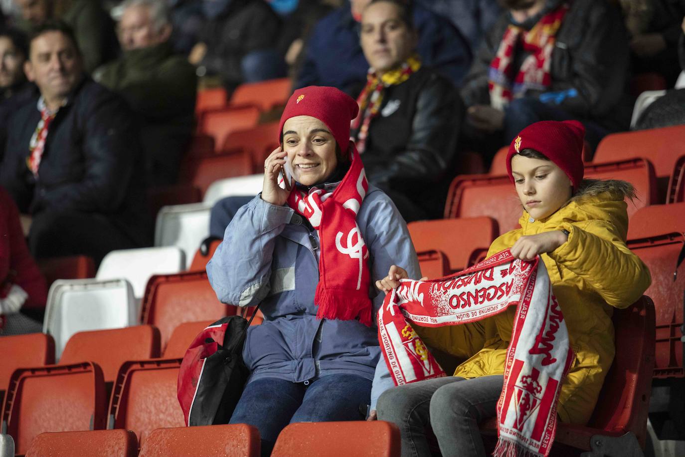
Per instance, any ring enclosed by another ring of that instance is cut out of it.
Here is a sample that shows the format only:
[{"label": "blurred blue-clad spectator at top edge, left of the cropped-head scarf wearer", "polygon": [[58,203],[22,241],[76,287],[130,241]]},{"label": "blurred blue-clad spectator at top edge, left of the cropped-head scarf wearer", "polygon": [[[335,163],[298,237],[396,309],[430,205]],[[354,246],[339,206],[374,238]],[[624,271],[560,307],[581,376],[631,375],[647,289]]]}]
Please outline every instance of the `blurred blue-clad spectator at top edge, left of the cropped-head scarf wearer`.
[{"label": "blurred blue-clad spectator at top edge, left of the cropped-head scarf wearer", "polygon": [[419,0],[419,3],[448,18],[469,40],[473,53],[501,12],[497,0]]}]

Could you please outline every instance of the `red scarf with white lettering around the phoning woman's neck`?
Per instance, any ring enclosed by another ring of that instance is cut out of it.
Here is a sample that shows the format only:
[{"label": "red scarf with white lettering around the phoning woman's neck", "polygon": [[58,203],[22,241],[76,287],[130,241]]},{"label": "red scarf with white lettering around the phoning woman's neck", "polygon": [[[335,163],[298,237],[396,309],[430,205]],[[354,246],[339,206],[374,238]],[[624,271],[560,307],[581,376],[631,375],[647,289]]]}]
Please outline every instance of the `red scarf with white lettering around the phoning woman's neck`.
[{"label": "red scarf with white lettering around the phoning woman's neck", "polygon": [[364,164],[354,143],[349,143],[351,165],[332,192],[311,188],[304,193],[295,188],[288,205],[312,224],[319,233],[319,284],[314,304],[319,319],[359,318],[371,326],[369,298],[369,248],[357,225],[357,214],[369,190]]}]

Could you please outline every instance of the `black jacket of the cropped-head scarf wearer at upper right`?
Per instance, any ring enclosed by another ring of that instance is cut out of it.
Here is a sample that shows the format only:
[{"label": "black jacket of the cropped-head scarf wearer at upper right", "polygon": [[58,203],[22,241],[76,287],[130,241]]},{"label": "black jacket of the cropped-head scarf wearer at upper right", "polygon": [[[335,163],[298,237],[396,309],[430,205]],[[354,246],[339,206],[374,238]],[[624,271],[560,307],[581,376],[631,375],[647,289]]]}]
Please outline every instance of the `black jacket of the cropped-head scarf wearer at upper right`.
[{"label": "black jacket of the cropped-head scarf wearer at upper right", "polygon": [[[461,94],[466,106],[490,104],[488,70],[509,23],[510,13],[503,12],[482,42],[464,79]],[[624,95],[629,66],[627,31],[619,10],[606,1],[571,2],[552,51],[549,92],[575,89],[577,95],[560,97],[558,107],[608,129],[627,129],[632,112],[632,99]]]}]

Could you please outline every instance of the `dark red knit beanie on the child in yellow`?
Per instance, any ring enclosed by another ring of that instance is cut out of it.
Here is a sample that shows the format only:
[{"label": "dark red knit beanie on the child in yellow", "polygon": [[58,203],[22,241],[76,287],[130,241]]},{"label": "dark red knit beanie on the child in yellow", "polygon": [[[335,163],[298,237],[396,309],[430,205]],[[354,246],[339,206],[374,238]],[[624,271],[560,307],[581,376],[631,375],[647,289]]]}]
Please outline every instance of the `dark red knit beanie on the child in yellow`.
[{"label": "dark red knit beanie on the child in yellow", "polygon": [[578,121],[541,121],[525,127],[512,140],[507,154],[507,173],[512,175],[512,157],[523,149],[535,149],[566,173],[577,190],[583,180],[583,145],[585,127]]}]

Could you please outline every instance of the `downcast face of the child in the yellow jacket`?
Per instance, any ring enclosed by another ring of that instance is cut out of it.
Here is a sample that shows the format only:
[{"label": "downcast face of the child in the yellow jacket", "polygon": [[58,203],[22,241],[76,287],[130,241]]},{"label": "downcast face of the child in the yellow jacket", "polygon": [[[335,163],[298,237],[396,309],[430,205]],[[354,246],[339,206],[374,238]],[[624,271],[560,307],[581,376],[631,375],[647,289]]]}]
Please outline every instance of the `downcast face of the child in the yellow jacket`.
[{"label": "downcast face of the child in the yellow jacket", "polygon": [[512,157],[512,175],[523,208],[534,219],[551,216],[572,195],[571,180],[551,160]]}]

